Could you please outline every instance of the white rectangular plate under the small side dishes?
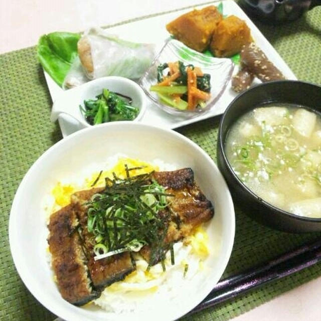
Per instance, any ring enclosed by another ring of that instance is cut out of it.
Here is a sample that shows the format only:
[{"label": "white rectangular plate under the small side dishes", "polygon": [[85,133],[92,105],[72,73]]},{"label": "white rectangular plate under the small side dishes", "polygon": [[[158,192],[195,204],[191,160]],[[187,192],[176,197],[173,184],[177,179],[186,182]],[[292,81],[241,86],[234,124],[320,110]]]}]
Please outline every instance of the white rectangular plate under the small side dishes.
[{"label": "white rectangular plate under the small side dishes", "polygon": [[[223,14],[224,15],[235,15],[240,19],[244,20],[248,27],[251,29],[251,35],[256,44],[263,50],[266,56],[271,60],[274,65],[284,74],[287,79],[296,80],[295,75],[282,60],[280,55],[272,47],[272,45],[266,40],[258,28],[253,24],[253,22],[246,16],[242,9],[232,0],[222,1],[223,3]],[[213,5],[218,5],[219,2],[214,2]],[[206,6],[209,6],[207,4]],[[200,9],[206,6],[196,6],[195,8]],[[165,41],[169,38],[169,33],[167,32],[165,26],[167,23],[171,22],[180,15],[191,11],[191,9],[184,9],[175,11],[173,13],[168,13],[164,15],[159,15],[156,17],[145,18],[135,22],[130,22],[120,26],[109,28],[108,31],[117,35],[124,40],[129,40],[133,42],[141,43],[155,43],[156,50],[159,51],[163,47]],[[237,68],[235,68],[237,69]],[[45,77],[47,80],[50,95],[53,101],[57,98],[61,89],[54,80],[45,72]],[[259,83],[255,80],[254,83]],[[159,110],[152,102],[148,101],[147,109],[144,116],[141,118],[140,122],[145,124],[154,124],[163,128],[177,128],[183,125],[187,125],[196,121],[207,119],[212,116],[222,114],[228,104],[236,97],[236,93],[231,89],[231,84],[227,85],[223,95],[217,101],[216,105],[211,108],[207,113],[201,114],[194,118],[184,118],[180,116],[173,116],[166,113],[165,111]],[[81,126],[73,120],[72,118],[61,115],[59,117],[59,124],[64,137],[70,133],[79,130]]]}]

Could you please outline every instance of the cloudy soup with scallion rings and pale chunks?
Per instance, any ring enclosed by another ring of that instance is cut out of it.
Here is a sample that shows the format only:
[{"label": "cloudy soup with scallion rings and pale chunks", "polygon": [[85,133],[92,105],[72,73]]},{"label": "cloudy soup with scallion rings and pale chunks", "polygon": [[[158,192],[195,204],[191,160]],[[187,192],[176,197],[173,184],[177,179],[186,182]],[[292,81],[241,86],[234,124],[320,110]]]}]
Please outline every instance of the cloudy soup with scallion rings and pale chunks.
[{"label": "cloudy soup with scallion rings and pale chunks", "polygon": [[321,218],[321,117],[293,105],[264,105],[230,129],[225,151],[257,196],[292,214]]}]

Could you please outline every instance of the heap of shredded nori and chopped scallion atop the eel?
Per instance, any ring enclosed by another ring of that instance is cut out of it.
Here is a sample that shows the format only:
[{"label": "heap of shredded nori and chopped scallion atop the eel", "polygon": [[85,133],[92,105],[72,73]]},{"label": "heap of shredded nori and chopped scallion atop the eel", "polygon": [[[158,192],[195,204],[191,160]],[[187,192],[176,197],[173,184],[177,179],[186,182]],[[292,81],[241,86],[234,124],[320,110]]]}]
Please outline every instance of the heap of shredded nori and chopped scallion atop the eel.
[{"label": "heap of shredded nori and chopped scallion atop the eel", "polygon": [[159,258],[164,265],[169,250],[164,239],[170,213],[164,211],[159,215],[158,212],[168,206],[167,197],[173,195],[152,179],[152,173],[130,177],[129,172],[134,169],[140,167],[125,166],[125,179],[115,173],[113,179],[105,178],[105,189],[87,202],[88,232],[99,236],[108,252],[130,248],[131,242],[147,244],[151,249],[150,262]]}]

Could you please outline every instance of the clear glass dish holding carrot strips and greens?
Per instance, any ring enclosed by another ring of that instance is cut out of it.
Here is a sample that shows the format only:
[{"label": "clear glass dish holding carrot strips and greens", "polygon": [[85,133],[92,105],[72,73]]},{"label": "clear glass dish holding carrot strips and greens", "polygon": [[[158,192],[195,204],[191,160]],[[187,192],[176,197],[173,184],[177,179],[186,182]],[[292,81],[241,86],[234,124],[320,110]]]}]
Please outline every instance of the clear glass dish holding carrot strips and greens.
[{"label": "clear glass dish holding carrot strips and greens", "polygon": [[[157,66],[166,62],[182,61],[185,65],[193,64],[200,67],[204,73],[211,75],[211,98],[205,107],[195,110],[180,110],[159,101],[157,94],[149,90],[151,85],[157,84]],[[214,58],[199,53],[175,39],[169,39],[151,66],[139,80],[139,85],[151,101],[162,110],[174,114],[194,117],[210,110],[223,94],[228,82],[232,77],[234,64],[228,58]]]}]

